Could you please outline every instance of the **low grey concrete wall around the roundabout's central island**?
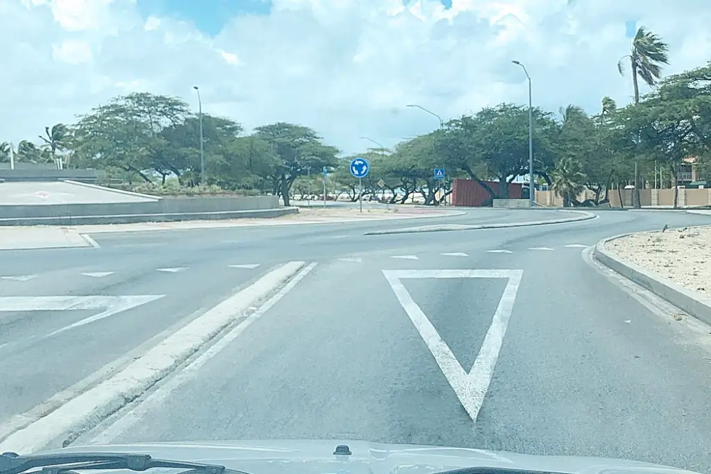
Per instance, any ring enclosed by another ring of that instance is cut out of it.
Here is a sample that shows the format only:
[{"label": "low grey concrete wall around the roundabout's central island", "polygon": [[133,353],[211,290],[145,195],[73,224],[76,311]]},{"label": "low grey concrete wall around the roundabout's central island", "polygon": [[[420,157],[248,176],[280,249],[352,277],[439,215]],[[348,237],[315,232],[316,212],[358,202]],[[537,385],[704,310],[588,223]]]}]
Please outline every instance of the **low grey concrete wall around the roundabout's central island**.
[{"label": "low grey concrete wall around the roundabout's central island", "polygon": [[145,203],[1,205],[0,225],[79,225],[278,217],[277,196],[163,198]]}]

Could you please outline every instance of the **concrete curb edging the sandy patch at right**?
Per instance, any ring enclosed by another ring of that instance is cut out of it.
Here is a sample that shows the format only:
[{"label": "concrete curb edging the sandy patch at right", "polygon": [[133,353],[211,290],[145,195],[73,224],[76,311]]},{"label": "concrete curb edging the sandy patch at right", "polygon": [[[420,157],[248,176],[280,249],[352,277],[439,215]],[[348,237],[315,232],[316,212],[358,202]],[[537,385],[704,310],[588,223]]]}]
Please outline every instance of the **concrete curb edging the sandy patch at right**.
[{"label": "concrete curb edging the sandy patch at right", "polygon": [[[695,226],[705,227],[705,226]],[[607,242],[615,239],[621,239],[628,235],[641,232],[629,232],[627,234],[616,235],[602,239],[595,244],[593,257],[598,262],[610,269],[616,271],[626,279],[634,281],[642,288],[651,291],[665,301],[673,304],[677,308],[689,313],[700,321],[711,325],[711,298],[707,298],[699,293],[689,291],[688,289],[678,286],[673,281],[665,279],[663,276],[652,274],[649,271],[629,262],[623,262],[611,252],[605,249]]]}]

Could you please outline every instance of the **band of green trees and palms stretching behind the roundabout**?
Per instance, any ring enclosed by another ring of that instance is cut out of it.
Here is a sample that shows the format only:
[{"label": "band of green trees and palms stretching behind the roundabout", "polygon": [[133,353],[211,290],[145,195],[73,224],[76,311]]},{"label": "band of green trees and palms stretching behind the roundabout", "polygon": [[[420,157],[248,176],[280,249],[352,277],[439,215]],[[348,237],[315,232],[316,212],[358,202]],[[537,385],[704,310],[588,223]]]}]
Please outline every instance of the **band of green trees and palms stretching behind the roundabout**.
[{"label": "band of green trees and palms stretching behind the roundabout", "polygon": [[[556,112],[533,109],[535,181],[569,205],[601,205],[611,189],[657,183],[675,188],[680,166],[695,161],[700,181],[711,181],[711,63],[663,77],[668,45],[639,28],[618,65],[634,88],[624,107],[602,97],[599,109],[574,104]],[[611,64],[611,68],[615,65]],[[644,95],[641,85],[651,90]],[[38,139],[0,144],[0,160],[51,163],[107,171],[112,185],[153,194],[240,193],[292,196],[321,194],[324,166],[332,173],[329,193],[358,198],[358,180],[348,161],[318,132],[301,124],[275,123],[247,134],[233,119],[203,115],[205,179],[201,180],[199,119],[186,102],[149,92],[116,97],[77,117],[74,124],[46,127]],[[11,150],[12,149],[12,150]],[[491,198],[506,198],[508,184],[528,173],[528,106],[498,104],[451,119],[429,134],[392,149],[363,150],[371,172],[368,196],[406,203],[422,195],[444,199],[433,168],[451,178],[479,181]],[[498,193],[487,181],[506,183]],[[588,202],[577,195],[594,192]],[[639,199],[636,199],[638,205]]]}]

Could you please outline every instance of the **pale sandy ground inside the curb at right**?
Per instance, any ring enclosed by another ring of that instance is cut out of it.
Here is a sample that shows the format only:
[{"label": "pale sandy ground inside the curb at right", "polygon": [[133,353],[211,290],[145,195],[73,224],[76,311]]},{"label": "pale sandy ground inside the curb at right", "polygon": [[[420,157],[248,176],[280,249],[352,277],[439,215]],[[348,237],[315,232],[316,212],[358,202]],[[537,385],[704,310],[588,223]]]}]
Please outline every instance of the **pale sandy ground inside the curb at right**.
[{"label": "pale sandy ground inside the curb at right", "polygon": [[642,232],[605,248],[679,286],[711,296],[711,227]]}]

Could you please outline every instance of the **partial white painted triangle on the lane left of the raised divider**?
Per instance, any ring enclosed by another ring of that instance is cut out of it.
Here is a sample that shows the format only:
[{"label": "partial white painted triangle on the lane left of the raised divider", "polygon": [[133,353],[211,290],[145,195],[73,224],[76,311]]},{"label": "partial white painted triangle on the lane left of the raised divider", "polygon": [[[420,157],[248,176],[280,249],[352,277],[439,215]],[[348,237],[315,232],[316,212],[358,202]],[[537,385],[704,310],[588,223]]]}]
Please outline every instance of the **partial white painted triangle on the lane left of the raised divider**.
[{"label": "partial white painted triangle on the lane left of the raised divider", "polygon": [[114,314],[136,308],[143,304],[163,298],[165,295],[133,296],[0,296],[0,312],[22,311],[81,311],[104,310],[101,313],[84,318],[47,335],[48,338],[66,330],[78,328],[95,321],[100,321]]}]

